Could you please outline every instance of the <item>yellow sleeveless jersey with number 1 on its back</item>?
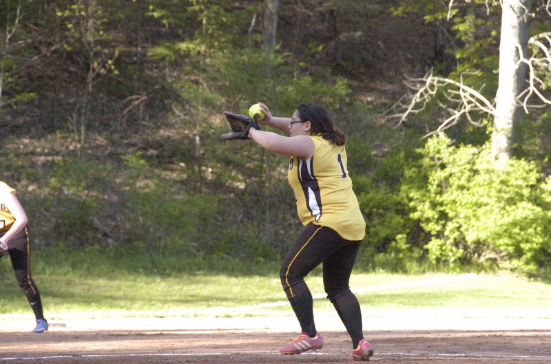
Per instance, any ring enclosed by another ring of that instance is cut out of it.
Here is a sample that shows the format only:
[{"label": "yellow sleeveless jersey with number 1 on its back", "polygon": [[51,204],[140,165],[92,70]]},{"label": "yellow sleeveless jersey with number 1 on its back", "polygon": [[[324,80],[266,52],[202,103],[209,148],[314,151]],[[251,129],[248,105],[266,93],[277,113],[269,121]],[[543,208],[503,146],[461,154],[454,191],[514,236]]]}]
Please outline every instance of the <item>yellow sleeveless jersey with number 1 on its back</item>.
[{"label": "yellow sleeveless jersey with number 1 on its back", "polygon": [[346,240],[362,240],[366,222],[352,190],[344,145],[321,136],[310,138],[315,148],[312,158],[291,157],[287,172],[300,221],[332,228]]}]

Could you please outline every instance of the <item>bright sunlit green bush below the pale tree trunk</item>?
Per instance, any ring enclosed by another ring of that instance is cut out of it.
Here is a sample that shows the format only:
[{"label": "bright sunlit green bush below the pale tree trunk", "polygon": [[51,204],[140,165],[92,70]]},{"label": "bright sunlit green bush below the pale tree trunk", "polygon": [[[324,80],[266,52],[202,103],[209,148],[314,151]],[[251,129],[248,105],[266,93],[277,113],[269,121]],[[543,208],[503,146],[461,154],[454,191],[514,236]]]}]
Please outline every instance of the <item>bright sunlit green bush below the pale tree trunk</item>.
[{"label": "bright sunlit green bush below the pale tree trunk", "polygon": [[548,265],[542,257],[551,253],[549,182],[539,181],[533,162],[513,159],[500,169],[487,147],[448,142],[428,140],[404,184],[412,217],[430,233],[424,246],[430,260],[541,273]]}]

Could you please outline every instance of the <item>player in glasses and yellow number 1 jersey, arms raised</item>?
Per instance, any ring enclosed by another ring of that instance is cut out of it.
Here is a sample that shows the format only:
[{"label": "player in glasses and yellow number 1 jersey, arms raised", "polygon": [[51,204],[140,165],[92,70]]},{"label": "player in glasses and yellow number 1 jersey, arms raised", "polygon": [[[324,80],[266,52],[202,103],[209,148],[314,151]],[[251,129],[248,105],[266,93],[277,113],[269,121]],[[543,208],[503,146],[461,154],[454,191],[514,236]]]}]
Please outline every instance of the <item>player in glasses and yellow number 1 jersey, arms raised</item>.
[{"label": "player in glasses and yellow number 1 jersey, arms raised", "polygon": [[288,180],[305,226],[280,269],[282,286],[302,334],[280,353],[300,354],[324,344],[315,328],[313,299],[304,282],[309,272],[323,264],[324,289],[350,334],[352,358],[368,361],[373,347],[364,339],[360,303],[349,286],[366,224],[346,168],[346,137],[320,105],[299,105],[291,118],[272,116],[266,105],[259,105],[264,118],[258,123],[289,136],[253,128],[248,136],[269,151],[291,157]]}]

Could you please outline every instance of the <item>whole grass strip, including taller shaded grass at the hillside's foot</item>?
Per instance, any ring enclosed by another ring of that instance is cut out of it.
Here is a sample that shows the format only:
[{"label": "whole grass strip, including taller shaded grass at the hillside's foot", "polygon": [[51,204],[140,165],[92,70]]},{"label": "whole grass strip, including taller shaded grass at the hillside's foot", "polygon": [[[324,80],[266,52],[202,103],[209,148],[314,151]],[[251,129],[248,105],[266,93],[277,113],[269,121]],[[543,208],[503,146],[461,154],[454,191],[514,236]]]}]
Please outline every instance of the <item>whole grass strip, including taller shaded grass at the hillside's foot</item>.
[{"label": "whole grass strip, including taller shaded grass at the hillside's foot", "polygon": [[[225,259],[194,266],[183,259],[167,263],[148,256],[113,254],[110,257],[60,248],[33,254],[33,276],[41,290],[44,310],[50,317],[293,314],[281,288],[278,264],[274,262],[237,264]],[[315,299],[315,309],[333,310],[324,298],[320,268],[316,268],[306,282],[314,297],[320,297]],[[10,259],[0,259],[0,288],[0,314],[30,314],[13,277]],[[363,310],[550,308],[551,302],[550,283],[507,274],[399,275],[357,270],[353,273],[351,288]],[[267,304],[272,306],[247,307]]]}]

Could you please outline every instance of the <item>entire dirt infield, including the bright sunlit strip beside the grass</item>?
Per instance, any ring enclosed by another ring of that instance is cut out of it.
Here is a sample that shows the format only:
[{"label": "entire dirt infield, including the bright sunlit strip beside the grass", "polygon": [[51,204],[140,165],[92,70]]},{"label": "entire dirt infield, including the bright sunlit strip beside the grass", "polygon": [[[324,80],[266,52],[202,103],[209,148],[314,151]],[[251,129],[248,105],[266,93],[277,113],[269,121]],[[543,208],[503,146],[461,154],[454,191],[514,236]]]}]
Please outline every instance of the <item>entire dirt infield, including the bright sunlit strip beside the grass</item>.
[{"label": "entire dirt infield, including the bright sunlit strip beside the grass", "polygon": [[[451,318],[442,314],[429,317],[424,311],[415,316],[406,312],[395,323],[391,323],[391,314],[397,311],[386,312],[386,316],[379,312],[380,321],[364,320],[375,329],[366,331],[366,339],[375,347],[374,363],[541,364],[551,363],[551,318],[547,313],[484,321],[471,312],[456,318],[462,322],[457,327],[470,325],[472,330],[437,330],[449,326]],[[279,347],[298,334],[293,317],[52,319],[50,330],[43,334],[21,332],[21,318],[2,317],[0,363],[352,363],[349,336],[334,318],[319,316],[323,349],[293,356],[278,354]],[[391,330],[379,330],[384,321],[391,323]],[[408,330],[394,330],[400,322]],[[498,322],[510,330],[501,330]],[[410,330],[412,324],[422,330]],[[497,328],[482,330],[483,325]]]}]

